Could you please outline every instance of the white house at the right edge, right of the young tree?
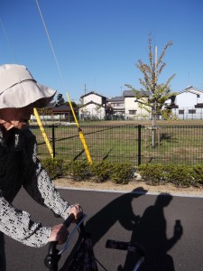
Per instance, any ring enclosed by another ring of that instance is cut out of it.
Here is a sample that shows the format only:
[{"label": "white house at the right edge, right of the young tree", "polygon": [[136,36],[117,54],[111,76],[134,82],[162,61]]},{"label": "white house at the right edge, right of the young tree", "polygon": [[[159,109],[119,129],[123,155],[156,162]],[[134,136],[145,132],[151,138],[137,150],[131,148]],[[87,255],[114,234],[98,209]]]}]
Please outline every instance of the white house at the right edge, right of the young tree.
[{"label": "white house at the right edge, right of the young tree", "polygon": [[179,119],[202,119],[203,90],[194,87],[183,89],[171,96],[165,107],[171,108],[173,115]]}]

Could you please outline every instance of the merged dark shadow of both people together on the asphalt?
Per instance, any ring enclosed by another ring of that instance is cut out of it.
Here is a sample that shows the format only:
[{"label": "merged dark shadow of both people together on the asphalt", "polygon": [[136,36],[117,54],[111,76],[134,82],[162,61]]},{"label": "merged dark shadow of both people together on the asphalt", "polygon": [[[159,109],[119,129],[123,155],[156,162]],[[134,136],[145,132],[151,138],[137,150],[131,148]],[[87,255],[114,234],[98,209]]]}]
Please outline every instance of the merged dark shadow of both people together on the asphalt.
[{"label": "merged dark shadow of both people together on the asphalt", "polygon": [[[181,238],[183,228],[180,220],[176,220],[173,236],[167,238],[164,208],[169,206],[172,196],[161,193],[154,204],[144,210],[143,216],[140,217],[134,214],[132,201],[145,193],[142,188],[137,188],[111,201],[87,221],[86,229],[91,232],[92,243],[95,246],[115,222],[119,221],[124,229],[132,231],[129,241],[132,244],[142,245],[145,250],[146,257],[140,271],[174,271],[173,259],[168,251]],[[134,252],[128,252],[124,266],[118,266],[117,270],[133,270],[136,261]]]}]

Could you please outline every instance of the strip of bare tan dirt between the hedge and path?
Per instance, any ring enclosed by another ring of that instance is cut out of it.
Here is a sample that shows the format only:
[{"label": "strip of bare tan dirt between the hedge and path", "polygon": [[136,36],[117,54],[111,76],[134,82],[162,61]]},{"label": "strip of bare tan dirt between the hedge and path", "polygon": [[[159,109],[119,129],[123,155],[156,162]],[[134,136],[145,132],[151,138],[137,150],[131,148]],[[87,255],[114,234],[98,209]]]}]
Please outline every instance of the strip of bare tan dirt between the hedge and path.
[{"label": "strip of bare tan dirt between the hedge and path", "polygon": [[144,189],[150,193],[171,193],[171,194],[181,194],[181,195],[196,195],[203,196],[203,188],[177,188],[171,184],[164,185],[147,185],[142,181],[131,181],[128,184],[115,184],[114,182],[90,182],[90,181],[80,181],[76,182],[68,178],[61,178],[54,180],[55,185],[60,188],[77,188],[77,189],[90,189],[93,191],[97,190],[107,190],[107,191],[122,191],[122,192],[132,192],[135,188],[141,188],[141,191]]}]

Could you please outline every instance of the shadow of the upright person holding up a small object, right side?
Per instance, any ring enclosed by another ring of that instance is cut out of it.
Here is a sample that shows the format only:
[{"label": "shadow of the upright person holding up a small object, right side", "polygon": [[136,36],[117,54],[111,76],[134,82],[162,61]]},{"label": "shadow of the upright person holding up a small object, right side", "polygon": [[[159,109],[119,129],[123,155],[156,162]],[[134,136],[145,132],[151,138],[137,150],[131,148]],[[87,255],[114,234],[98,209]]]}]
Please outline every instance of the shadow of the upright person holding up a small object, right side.
[{"label": "shadow of the upright person holding up a small object, right side", "polygon": [[[183,229],[180,220],[176,220],[174,232],[171,238],[166,235],[166,219],[164,217],[164,208],[172,200],[170,194],[161,193],[154,205],[148,207],[143,212],[143,217],[133,230],[131,242],[141,244],[145,250],[146,257],[141,266],[141,271],[173,271],[173,259],[167,252],[181,238]],[[118,270],[133,270],[133,253],[129,252],[125,260],[125,266]]]}]

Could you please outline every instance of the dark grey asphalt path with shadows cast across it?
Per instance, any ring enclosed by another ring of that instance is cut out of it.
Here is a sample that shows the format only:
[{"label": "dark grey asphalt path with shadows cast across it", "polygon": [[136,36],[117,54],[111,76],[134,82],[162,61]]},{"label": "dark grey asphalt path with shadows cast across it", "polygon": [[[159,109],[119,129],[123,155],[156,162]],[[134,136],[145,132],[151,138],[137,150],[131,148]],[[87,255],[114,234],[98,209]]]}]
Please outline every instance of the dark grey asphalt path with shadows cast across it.
[{"label": "dark grey asphalt path with shadows cast across it", "polygon": [[[117,270],[119,265],[125,266],[120,270],[130,271],[134,257],[105,248],[107,238],[141,242],[148,252],[144,270],[203,270],[203,198],[78,190],[60,190],[60,193],[72,203],[79,202],[88,214],[86,227],[92,233],[96,256],[108,271]],[[33,220],[40,220],[46,226],[61,221],[23,190],[14,205],[29,211]],[[134,220],[139,217],[138,225]],[[174,236],[176,220],[180,220],[183,228],[180,239]],[[29,248],[11,238],[5,241],[8,271],[48,270],[43,265],[48,246]],[[63,256],[60,263],[64,260]],[[153,262],[159,267],[152,268]]]}]

